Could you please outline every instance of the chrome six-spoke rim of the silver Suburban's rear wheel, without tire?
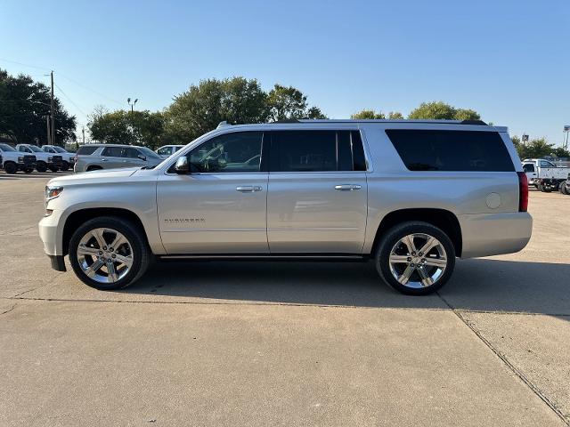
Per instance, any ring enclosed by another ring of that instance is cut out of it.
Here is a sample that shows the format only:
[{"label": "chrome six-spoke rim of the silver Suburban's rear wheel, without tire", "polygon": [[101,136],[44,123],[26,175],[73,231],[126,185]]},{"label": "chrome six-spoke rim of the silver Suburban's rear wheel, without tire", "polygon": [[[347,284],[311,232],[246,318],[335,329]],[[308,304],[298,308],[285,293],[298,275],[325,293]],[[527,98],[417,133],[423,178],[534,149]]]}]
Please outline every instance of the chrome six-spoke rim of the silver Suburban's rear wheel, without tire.
[{"label": "chrome six-spoke rim of the silver Suburban's rear wheel, without tire", "polygon": [[395,243],[389,263],[392,276],[400,284],[418,289],[434,285],[444,275],[447,254],[433,236],[414,233]]}]

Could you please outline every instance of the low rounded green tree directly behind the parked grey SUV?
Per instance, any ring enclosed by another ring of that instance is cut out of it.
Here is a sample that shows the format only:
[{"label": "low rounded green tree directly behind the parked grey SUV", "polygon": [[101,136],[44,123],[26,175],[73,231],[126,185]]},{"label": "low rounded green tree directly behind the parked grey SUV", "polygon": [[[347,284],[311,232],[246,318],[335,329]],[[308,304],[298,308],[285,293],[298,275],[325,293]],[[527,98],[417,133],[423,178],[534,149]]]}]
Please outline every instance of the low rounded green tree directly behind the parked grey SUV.
[{"label": "low rounded green tree directly behind the parked grey SUV", "polygon": [[164,139],[164,117],[151,111],[126,111],[112,113],[98,109],[87,124],[96,141],[112,144],[134,144],[156,149]]}]

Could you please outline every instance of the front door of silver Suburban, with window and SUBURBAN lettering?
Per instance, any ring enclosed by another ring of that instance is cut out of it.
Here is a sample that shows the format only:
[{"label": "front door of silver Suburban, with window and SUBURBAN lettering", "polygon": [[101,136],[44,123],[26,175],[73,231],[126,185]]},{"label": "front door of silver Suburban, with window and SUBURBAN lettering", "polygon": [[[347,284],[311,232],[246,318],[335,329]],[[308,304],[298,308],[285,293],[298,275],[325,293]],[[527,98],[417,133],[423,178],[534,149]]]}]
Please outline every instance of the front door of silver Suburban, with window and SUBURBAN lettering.
[{"label": "front door of silver Suburban, with window and SUBURBAN lettering", "polygon": [[[168,254],[266,254],[268,173],[263,133],[224,133],[191,150],[191,172],[159,178],[159,230]],[[265,163],[265,162],[264,162]]]}]

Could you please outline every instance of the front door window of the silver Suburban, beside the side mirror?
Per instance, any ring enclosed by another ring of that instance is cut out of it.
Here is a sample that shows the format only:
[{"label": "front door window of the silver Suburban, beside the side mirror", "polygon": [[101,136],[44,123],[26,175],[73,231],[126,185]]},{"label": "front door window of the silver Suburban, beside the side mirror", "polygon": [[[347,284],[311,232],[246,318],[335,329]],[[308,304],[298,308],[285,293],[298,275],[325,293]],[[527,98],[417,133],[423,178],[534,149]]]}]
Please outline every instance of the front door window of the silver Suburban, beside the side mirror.
[{"label": "front door window of the silver Suburban, beside the side mirror", "polygon": [[191,170],[202,173],[259,172],[262,141],[261,132],[216,136],[191,150]]}]

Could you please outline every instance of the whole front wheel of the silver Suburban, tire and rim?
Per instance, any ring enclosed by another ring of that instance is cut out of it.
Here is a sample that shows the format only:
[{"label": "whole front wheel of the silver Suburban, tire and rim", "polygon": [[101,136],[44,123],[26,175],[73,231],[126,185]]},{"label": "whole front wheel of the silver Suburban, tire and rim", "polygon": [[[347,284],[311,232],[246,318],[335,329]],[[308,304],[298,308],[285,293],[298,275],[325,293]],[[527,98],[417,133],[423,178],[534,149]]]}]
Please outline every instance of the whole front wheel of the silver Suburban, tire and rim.
[{"label": "whole front wheel of the silver Suburban, tire and rim", "polygon": [[146,240],[132,222],[100,217],[85,222],[69,242],[69,262],[85,285],[121,289],[142,277],[151,261]]}]

